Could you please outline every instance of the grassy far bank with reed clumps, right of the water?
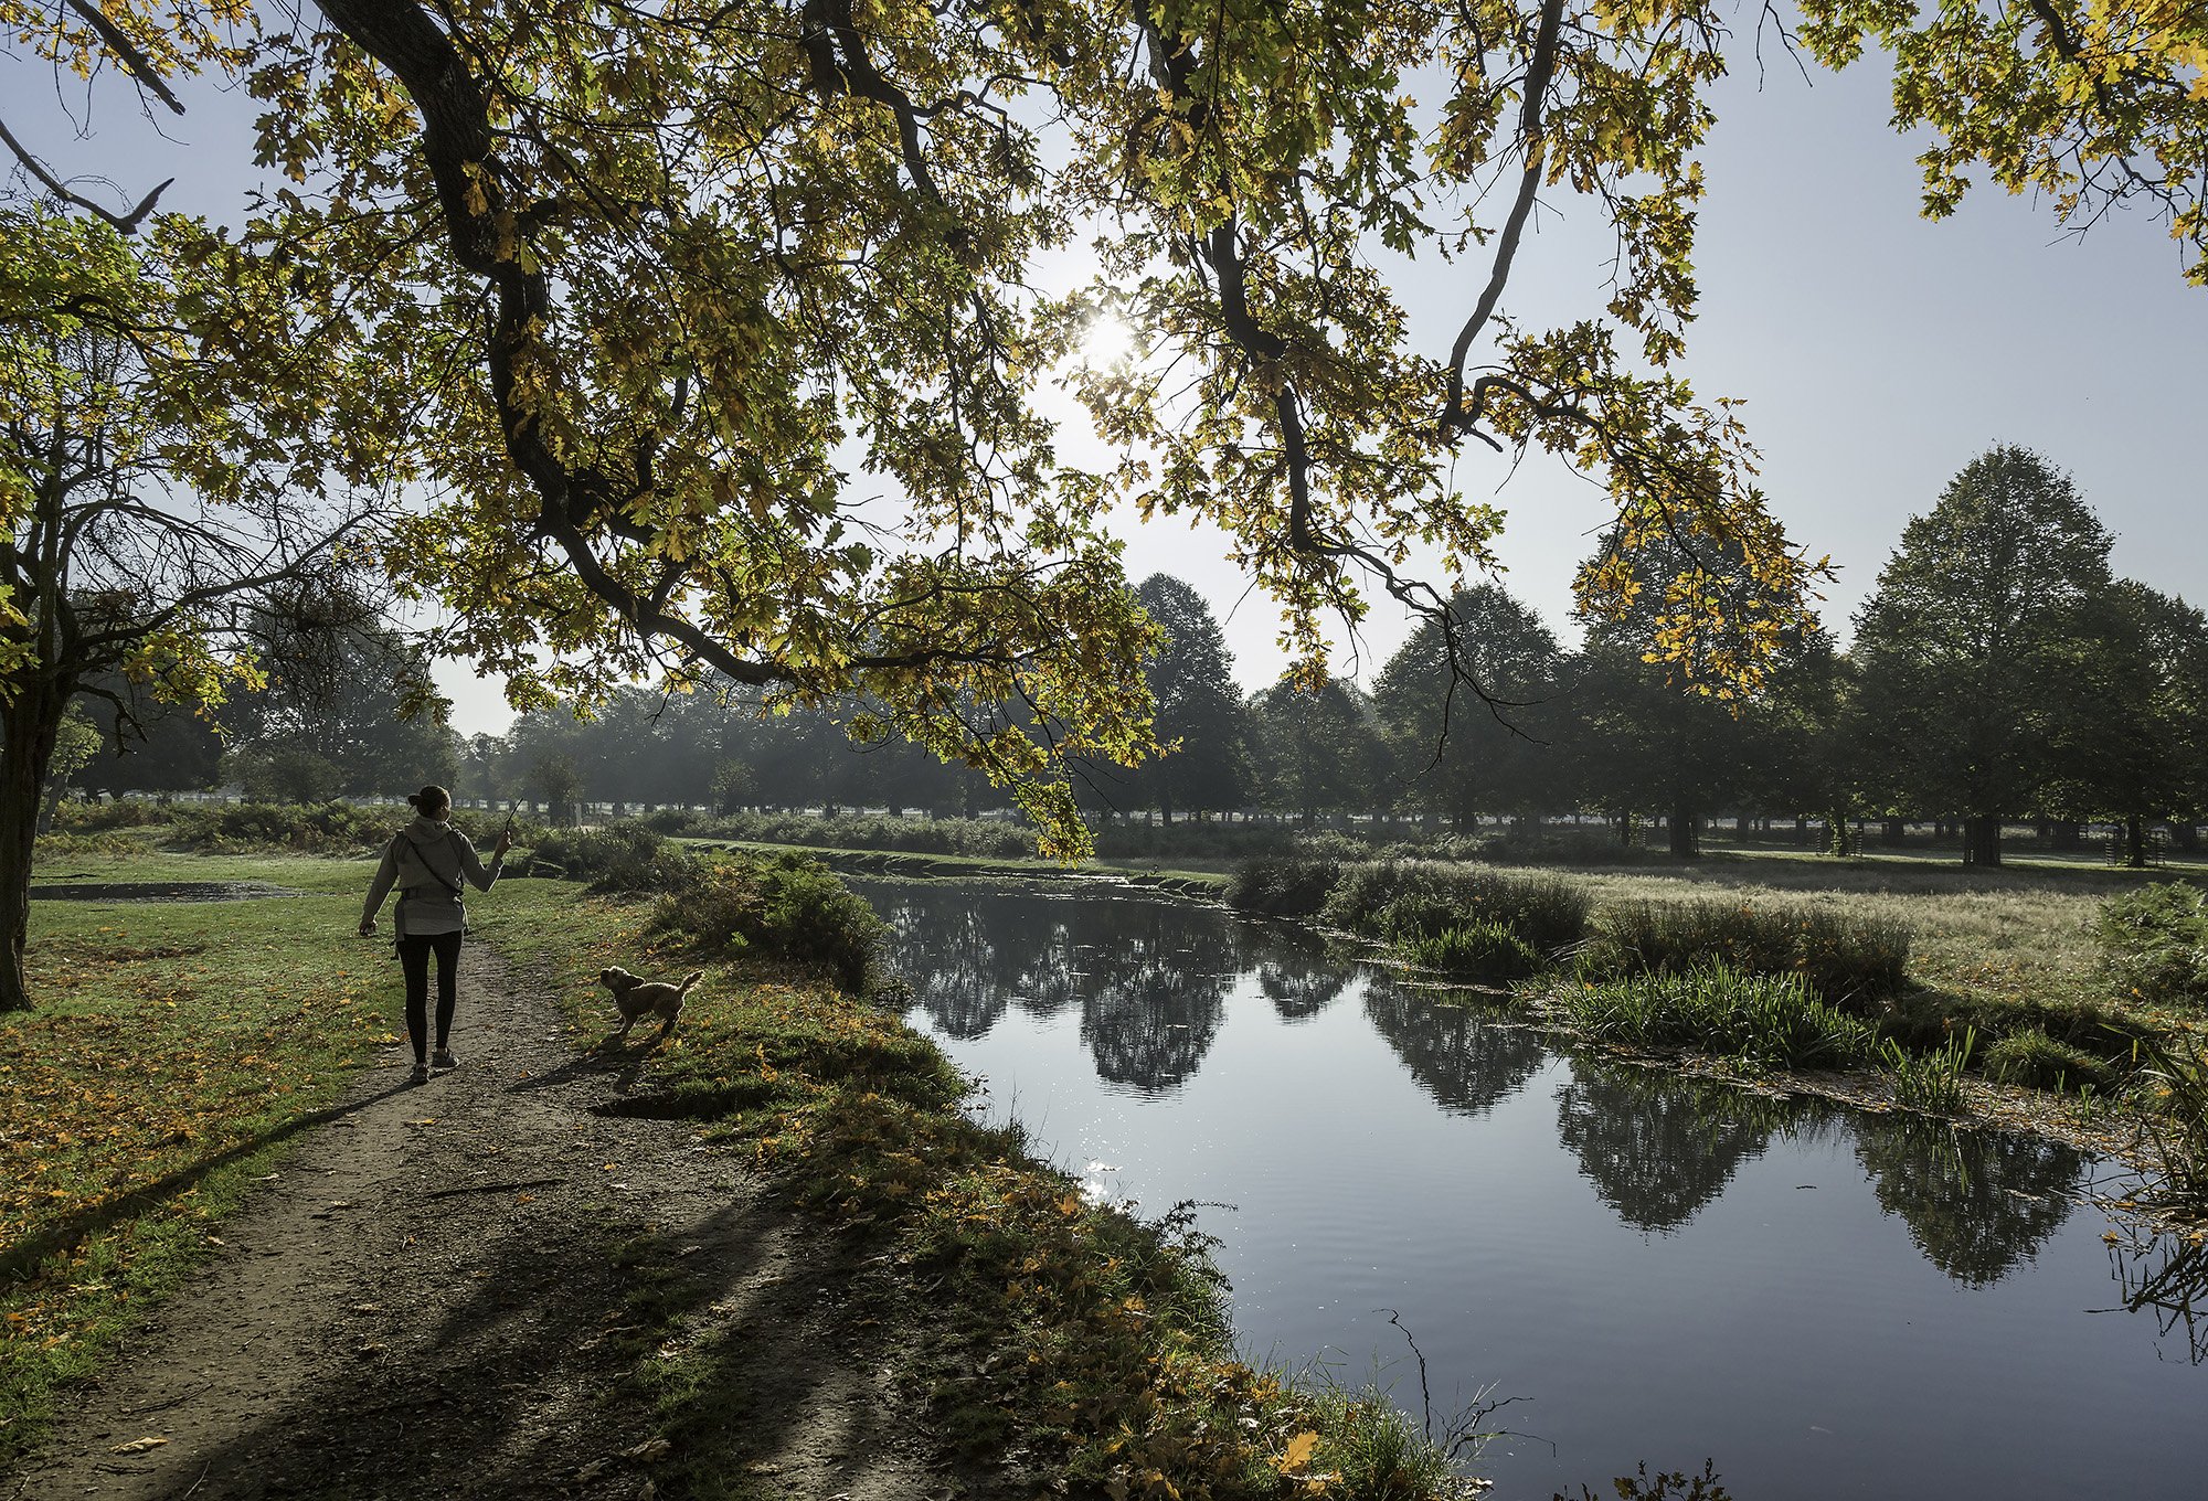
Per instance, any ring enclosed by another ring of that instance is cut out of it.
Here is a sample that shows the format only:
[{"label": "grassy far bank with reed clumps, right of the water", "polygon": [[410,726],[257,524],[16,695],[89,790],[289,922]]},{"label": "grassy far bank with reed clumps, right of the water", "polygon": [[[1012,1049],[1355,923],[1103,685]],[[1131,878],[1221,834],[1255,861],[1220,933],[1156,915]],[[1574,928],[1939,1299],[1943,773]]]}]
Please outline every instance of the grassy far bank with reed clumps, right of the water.
[{"label": "grassy far bank with reed clumps, right of the water", "polygon": [[1855,1071],[1866,1084],[1844,1093],[1868,1104],[1976,1104],[2098,1146],[2124,1119],[2170,1203],[2208,1212],[2186,1188],[2208,1161],[2208,907],[2188,885],[1784,854],[1627,870],[1287,859],[1248,863],[1230,901],[1510,987],[1636,1051],[1747,1075]]}]

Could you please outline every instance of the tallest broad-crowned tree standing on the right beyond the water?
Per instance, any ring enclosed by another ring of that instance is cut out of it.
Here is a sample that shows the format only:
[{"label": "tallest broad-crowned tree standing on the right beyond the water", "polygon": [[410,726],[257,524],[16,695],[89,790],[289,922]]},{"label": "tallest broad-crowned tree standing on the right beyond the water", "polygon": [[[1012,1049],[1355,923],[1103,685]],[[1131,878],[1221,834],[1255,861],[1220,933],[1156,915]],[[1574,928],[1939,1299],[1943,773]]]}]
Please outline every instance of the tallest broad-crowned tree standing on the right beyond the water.
[{"label": "tallest broad-crowned tree standing on the right beyond the water", "polygon": [[2106,528],[2029,448],[1972,459],[1914,517],[1855,618],[1866,753],[1921,812],[1961,815],[1963,859],[2000,863],[2076,739],[2062,684],[2106,594]]}]

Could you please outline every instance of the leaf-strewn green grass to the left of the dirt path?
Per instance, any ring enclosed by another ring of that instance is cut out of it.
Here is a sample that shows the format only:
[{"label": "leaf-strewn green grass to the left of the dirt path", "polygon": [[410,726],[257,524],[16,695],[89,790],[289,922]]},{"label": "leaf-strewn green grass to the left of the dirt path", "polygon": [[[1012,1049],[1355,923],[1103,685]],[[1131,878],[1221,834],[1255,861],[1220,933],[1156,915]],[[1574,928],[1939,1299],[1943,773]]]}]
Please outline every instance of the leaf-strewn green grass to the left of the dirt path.
[{"label": "leaf-strewn green grass to the left of the dirt path", "polygon": [[[93,865],[40,874],[75,872]],[[316,894],[31,903],[38,1009],[0,1018],[0,1457],[205,1260],[397,1011],[389,949],[353,938],[360,863],[137,859],[95,879]]]}]

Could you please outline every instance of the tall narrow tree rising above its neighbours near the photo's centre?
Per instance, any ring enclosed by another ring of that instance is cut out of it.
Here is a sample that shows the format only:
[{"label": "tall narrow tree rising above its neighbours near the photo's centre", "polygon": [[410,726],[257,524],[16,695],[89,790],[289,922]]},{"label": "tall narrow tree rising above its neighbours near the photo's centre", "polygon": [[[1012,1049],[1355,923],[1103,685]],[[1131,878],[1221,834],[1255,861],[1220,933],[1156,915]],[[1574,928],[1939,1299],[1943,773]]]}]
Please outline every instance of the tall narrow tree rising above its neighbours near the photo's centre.
[{"label": "tall narrow tree rising above its neighbours near the photo's centre", "polygon": [[1228,638],[1203,596],[1172,574],[1150,574],[1135,598],[1166,631],[1142,671],[1157,700],[1157,739],[1170,746],[1135,770],[1135,784],[1166,823],[1183,808],[1234,808],[1250,792],[1250,746]]}]

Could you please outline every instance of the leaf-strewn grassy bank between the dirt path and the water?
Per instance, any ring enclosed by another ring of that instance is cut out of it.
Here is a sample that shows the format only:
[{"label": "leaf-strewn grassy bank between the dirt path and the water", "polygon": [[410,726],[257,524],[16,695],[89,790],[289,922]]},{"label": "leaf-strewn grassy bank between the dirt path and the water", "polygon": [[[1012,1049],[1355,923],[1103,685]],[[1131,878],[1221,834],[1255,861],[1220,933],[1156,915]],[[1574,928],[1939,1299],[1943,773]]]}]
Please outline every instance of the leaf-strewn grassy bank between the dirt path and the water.
[{"label": "leaf-strewn grassy bank between the dirt path and the water", "polygon": [[[1195,1216],[1093,1205],[1018,1126],[972,1121],[967,1082],[892,1009],[894,980],[854,998],[757,960],[715,960],[654,934],[651,907],[634,898],[576,894],[567,914],[559,932],[506,934],[501,949],[556,996],[578,1053],[607,1020],[601,951],[704,971],[680,1048],[625,1108],[749,1146],[790,1207],[896,1267],[916,1318],[885,1331],[885,1349],[912,1362],[930,1422],[958,1455],[1009,1457],[1051,1490],[1086,1483],[1106,1497],[1477,1490],[1444,1452],[1455,1433],[1435,1444],[1380,1393],[1245,1364]],[[764,996],[757,1022],[737,1015],[746,991]],[[711,1393],[671,1393],[649,1360],[638,1382],[671,1441],[696,1437]]]}]

